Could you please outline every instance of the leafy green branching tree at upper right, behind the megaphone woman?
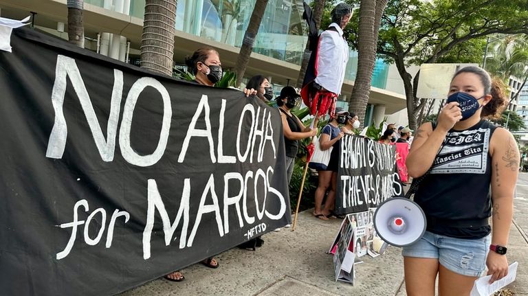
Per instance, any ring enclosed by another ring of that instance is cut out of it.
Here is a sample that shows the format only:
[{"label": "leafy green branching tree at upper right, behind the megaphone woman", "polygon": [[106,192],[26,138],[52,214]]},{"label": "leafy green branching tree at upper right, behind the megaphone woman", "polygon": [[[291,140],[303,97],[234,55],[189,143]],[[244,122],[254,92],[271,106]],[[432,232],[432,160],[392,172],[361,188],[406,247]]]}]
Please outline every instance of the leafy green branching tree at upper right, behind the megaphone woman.
[{"label": "leafy green branching tree at upper right, behind the megaphone woman", "polygon": [[[347,1],[358,5],[360,0]],[[358,18],[347,27],[358,48]],[[419,73],[406,67],[434,62],[476,62],[490,34],[527,34],[528,0],[393,0],[382,16],[377,54],[394,63],[404,80],[410,128],[424,102],[416,98]],[[478,59],[480,61],[481,59]]]}]

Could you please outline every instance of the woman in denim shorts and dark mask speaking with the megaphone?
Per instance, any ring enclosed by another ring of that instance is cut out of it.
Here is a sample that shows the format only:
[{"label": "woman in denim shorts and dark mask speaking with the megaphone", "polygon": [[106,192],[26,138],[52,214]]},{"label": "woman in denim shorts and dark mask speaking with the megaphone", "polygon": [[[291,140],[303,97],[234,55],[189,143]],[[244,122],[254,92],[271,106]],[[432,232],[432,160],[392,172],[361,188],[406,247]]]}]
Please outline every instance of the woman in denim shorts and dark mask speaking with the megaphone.
[{"label": "woman in denim shorts and dark mask speaking with the megaphone", "polygon": [[406,164],[411,177],[423,177],[414,200],[428,223],[402,252],[407,295],[434,295],[437,275],[439,295],[469,295],[486,266],[490,282],[507,275],[520,157],[511,133],[484,119],[506,104],[500,83],[465,67],[452,78],[437,124],[416,130]]}]

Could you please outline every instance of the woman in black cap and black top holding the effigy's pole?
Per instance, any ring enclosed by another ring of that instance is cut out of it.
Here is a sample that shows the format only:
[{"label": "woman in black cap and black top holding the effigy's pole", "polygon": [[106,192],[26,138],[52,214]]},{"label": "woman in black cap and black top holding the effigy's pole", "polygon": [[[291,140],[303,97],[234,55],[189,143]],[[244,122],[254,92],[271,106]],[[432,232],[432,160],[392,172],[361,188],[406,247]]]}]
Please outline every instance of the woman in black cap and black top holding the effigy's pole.
[{"label": "woman in black cap and black top holding the effigy's pole", "polygon": [[[299,148],[299,140],[306,139],[317,135],[317,128],[309,128],[292,114],[292,109],[296,106],[300,95],[293,87],[284,87],[281,90],[281,95],[277,98],[278,110],[281,111],[283,119],[283,132],[286,146],[286,171],[288,174],[288,183],[292,179],[294,172],[295,157]],[[317,126],[317,119],[314,122]]]}]

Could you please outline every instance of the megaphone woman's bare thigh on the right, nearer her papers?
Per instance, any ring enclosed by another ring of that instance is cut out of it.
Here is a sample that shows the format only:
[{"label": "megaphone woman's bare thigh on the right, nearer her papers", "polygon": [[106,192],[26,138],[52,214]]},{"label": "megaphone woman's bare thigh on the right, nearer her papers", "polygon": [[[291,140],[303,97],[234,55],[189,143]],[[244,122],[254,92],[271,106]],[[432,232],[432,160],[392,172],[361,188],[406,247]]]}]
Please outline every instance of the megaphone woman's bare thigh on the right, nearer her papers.
[{"label": "megaphone woman's bare thigh on the right, nearer her papers", "polygon": [[470,295],[471,289],[473,288],[473,284],[476,279],[477,277],[468,277],[467,275],[459,275],[458,273],[454,273],[440,264],[438,295]]}]

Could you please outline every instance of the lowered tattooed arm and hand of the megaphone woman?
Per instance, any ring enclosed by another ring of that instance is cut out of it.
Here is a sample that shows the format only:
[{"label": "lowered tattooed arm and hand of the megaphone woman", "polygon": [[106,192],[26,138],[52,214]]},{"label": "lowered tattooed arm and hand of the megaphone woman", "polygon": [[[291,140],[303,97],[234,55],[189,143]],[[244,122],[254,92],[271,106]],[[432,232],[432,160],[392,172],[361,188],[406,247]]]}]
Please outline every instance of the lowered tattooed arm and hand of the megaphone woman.
[{"label": "lowered tattooed arm and hand of the megaphone woman", "polygon": [[[509,131],[497,128],[490,144],[492,152],[492,244],[507,247],[514,212],[514,192],[519,171],[519,150]],[[486,265],[491,282],[508,274],[505,255],[489,251]]]}]

